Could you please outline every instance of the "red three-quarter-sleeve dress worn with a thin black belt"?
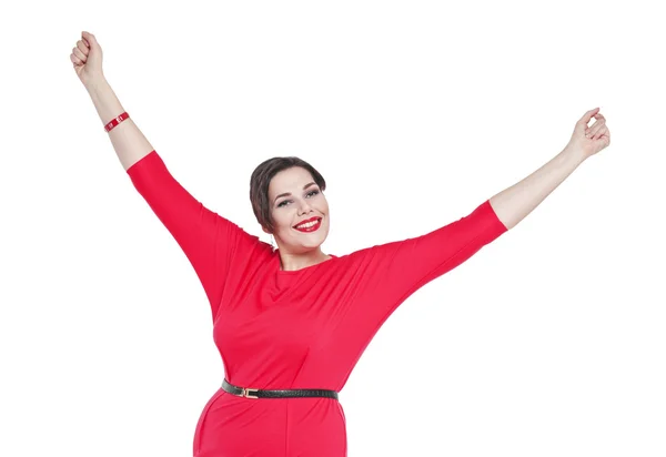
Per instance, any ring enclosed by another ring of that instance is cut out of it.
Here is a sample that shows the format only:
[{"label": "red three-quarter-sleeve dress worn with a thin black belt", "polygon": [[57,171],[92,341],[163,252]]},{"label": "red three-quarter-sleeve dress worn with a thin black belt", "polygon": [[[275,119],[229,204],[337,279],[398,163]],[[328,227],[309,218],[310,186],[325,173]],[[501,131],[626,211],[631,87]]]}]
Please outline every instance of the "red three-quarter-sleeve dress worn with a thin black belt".
[{"label": "red three-quarter-sleeve dress worn with a thin black belt", "polygon": [[[426,235],[286,272],[271,245],[203,206],[155,151],[128,174],[194,267],[225,377],[241,387],[340,392],[402,302],[507,230],[486,201]],[[344,412],[332,398],[253,399],[220,388],[199,418],[193,454],[343,457]]]}]

